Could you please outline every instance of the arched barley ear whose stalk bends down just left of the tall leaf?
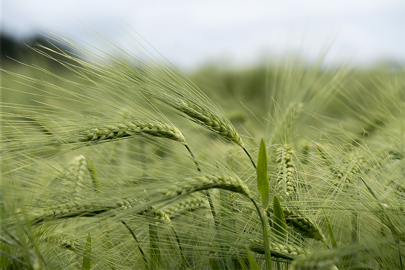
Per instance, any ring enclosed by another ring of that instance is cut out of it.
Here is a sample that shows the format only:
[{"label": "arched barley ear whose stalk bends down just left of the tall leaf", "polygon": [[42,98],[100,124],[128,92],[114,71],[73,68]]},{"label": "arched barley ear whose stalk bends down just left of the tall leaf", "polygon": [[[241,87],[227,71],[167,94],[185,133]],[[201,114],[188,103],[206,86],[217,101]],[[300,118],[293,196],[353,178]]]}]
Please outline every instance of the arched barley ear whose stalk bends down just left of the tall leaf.
[{"label": "arched barley ear whose stalk bends down just left of the tall leaf", "polygon": [[162,191],[165,192],[166,196],[178,196],[211,188],[222,188],[245,195],[249,199],[252,198],[248,186],[242,180],[236,177],[223,175],[203,175],[194,178],[187,178],[182,181],[182,183]]}]

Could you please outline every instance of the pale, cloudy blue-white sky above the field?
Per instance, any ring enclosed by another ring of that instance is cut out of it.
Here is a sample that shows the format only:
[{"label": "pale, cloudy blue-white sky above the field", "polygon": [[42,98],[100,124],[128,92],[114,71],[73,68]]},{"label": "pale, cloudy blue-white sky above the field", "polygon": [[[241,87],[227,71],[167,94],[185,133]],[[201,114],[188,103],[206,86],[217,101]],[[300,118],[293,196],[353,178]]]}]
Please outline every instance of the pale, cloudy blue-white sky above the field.
[{"label": "pale, cloudy blue-white sky above the field", "polygon": [[[3,0],[2,32],[49,30],[87,41],[96,31],[123,47],[139,33],[179,68],[246,66],[298,54],[327,64],[405,62],[405,1]],[[90,30],[91,29],[91,30]],[[136,40],[140,40],[138,36]]]}]

